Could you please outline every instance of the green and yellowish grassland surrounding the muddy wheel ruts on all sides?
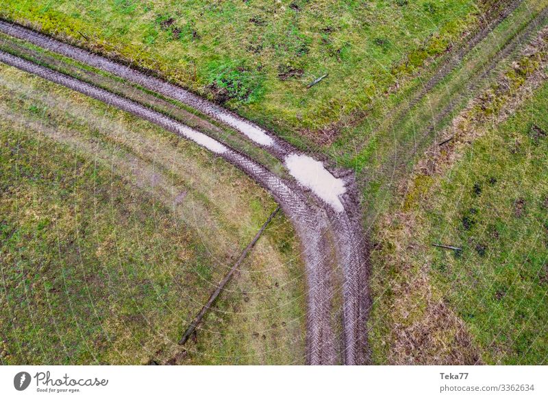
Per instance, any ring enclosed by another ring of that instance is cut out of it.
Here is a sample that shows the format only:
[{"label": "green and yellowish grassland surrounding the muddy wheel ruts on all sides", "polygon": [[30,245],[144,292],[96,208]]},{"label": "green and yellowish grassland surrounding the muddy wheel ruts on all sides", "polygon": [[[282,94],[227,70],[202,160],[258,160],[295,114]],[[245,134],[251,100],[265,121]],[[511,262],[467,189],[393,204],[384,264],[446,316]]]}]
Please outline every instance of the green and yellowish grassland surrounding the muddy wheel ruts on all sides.
[{"label": "green and yellowish grassland surrounding the muddy wheel ruts on all sides", "polygon": [[[0,17],[151,69],[353,169],[372,234],[375,363],[545,364],[548,84],[516,99],[547,62],[546,49],[523,48],[545,27],[548,0],[523,0],[424,86],[508,4],[0,0]],[[1,34],[0,49],[141,101],[286,176],[190,108]],[[499,121],[514,100],[519,110]],[[424,154],[450,134],[438,158]],[[1,363],[304,362],[304,271],[283,215],[197,339],[176,343],[276,206],[245,175],[3,64],[0,140]]]}]

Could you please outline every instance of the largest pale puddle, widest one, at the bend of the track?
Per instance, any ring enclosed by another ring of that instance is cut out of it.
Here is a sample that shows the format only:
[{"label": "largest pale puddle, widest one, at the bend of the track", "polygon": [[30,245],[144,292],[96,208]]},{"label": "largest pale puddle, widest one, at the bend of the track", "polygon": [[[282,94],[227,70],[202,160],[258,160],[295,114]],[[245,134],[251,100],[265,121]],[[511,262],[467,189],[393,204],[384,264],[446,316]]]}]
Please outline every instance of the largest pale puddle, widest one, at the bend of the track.
[{"label": "largest pale puddle, widest one, at the bend of the track", "polygon": [[343,212],[343,203],[338,197],[347,191],[343,179],[336,178],[323,167],[322,162],[306,155],[290,154],[285,159],[285,165],[299,183],[314,191],[337,212]]}]

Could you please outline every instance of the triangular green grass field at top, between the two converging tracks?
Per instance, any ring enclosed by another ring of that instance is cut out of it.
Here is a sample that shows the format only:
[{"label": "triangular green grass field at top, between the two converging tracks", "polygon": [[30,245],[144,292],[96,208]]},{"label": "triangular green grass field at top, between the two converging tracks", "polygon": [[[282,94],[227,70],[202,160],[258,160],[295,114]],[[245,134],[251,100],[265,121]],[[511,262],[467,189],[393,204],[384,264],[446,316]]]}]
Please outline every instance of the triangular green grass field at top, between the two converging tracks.
[{"label": "triangular green grass field at top, between the two converging tracks", "polygon": [[[498,6],[485,0],[1,5],[0,16],[160,71],[279,134],[316,143],[330,143],[341,118],[369,108]],[[325,73],[321,84],[306,88]]]}]

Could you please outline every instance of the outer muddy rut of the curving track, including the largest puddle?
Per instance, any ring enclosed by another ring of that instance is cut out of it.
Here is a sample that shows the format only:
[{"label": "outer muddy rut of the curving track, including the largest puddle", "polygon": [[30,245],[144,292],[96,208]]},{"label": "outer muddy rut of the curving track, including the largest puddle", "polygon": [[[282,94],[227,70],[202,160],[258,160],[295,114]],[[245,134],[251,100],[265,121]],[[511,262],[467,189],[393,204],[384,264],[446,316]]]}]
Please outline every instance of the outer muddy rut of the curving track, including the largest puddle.
[{"label": "outer muddy rut of the curving track, including the largest puddle", "polygon": [[[363,238],[360,217],[355,216],[360,213],[358,195],[351,194],[352,191],[356,191],[353,179],[347,178],[346,180],[342,180],[335,178],[330,171],[325,169],[322,162],[299,152],[289,143],[277,138],[277,136],[260,128],[260,126],[239,117],[234,112],[212,104],[210,101],[202,99],[179,86],[136,71],[129,68],[129,66],[113,62],[108,58],[62,43],[30,29],[6,23],[5,21],[0,21],[0,31],[10,36],[27,40],[44,49],[73,58],[79,62],[84,62],[97,69],[112,73],[128,82],[153,90],[155,93],[160,93],[165,97],[181,101],[183,104],[195,108],[199,112],[240,132],[254,145],[266,149],[267,152],[282,160],[284,165],[290,170],[292,176],[301,185],[297,185],[296,189],[312,193],[316,199],[316,204],[319,204],[321,208],[329,210],[327,212],[327,225],[336,227],[334,227],[334,230],[336,230],[334,246],[339,258],[339,261],[336,263],[340,265],[340,269],[342,269],[344,274],[343,340],[345,344],[343,345],[342,357],[344,363],[347,364],[360,364],[364,362],[362,352],[364,352],[364,348],[366,347],[365,319],[369,309],[369,301],[364,299],[368,298],[366,279],[364,277],[366,276],[364,270],[366,269],[365,248],[367,245]],[[309,169],[308,173],[299,174],[299,172],[306,171],[306,169]],[[341,171],[338,172],[340,173]],[[351,176],[350,173],[347,173],[347,176]],[[335,212],[332,212],[331,208],[334,208]],[[339,213],[342,213],[344,216],[339,215]],[[349,217],[348,215],[354,216]],[[341,219],[344,219],[345,223],[341,223]],[[305,247],[308,247],[309,243],[303,240],[303,237],[306,236],[301,236],[301,243]],[[343,259],[344,261],[342,261]],[[323,262],[327,263],[327,261]],[[331,267],[324,267],[323,273],[326,274],[330,269],[333,269],[333,265]],[[327,289],[326,292],[329,292],[329,290]],[[362,306],[367,307],[361,309]],[[309,322],[309,324],[311,323]],[[310,326],[310,329],[314,330],[312,326]],[[332,334],[331,330],[329,330],[329,334]],[[332,344],[323,343],[324,348],[327,348],[327,346],[332,346]],[[311,347],[312,345],[309,348],[309,352],[312,352]],[[335,350],[333,349],[333,351]],[[331,357],[330,355],[327,356],[329,359]],[[332,363],[332,361],[328,363]]]}]

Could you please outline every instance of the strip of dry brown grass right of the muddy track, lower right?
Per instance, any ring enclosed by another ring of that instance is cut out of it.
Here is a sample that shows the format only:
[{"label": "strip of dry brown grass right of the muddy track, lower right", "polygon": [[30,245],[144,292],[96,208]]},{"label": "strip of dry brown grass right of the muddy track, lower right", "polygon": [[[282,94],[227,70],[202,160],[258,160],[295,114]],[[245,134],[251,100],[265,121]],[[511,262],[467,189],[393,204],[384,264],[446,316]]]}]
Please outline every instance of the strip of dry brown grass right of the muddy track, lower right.
[{"label": "strip of dry brown grass right of the muddy track, lower right", "polygon": [[[443,293],[430,282],[429,262],[416,258],[427,253],[417,235],[414,213],[399,212],[386,217],[373,254],[384,269],[395,276],[384,287],[379,308],[389,320],[390,335],[384,340],[389,364],[474,364],[479,351],[471,343],[466,326],[449,309]],[[397,227],[396,227],[397,226]],[[419,266],[417,266],[419,265]],[[378,289],[378,287],[377,287]]]}]

